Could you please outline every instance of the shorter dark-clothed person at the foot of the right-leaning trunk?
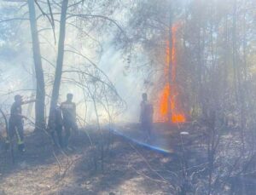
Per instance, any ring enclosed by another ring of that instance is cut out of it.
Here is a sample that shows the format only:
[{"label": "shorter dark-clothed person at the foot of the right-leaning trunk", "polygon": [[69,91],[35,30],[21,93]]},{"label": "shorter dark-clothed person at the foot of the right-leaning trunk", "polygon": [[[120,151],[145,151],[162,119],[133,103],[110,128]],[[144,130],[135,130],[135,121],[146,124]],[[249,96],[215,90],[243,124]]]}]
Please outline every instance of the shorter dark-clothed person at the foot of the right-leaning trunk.
[{"label": "shorter dark-clothed person at the foot of the right-leaning trunk", "polygon": [[[50,112],[51,116],[49,116],[49,132],[52,136],[55,146],[63,147],[63,139],[62,139],[62,127],[63,127],[63,118],[61,115],[61,107],[56,106],[54,112]],[[55,134],[57,135],[57,140],[55,138]]]}]

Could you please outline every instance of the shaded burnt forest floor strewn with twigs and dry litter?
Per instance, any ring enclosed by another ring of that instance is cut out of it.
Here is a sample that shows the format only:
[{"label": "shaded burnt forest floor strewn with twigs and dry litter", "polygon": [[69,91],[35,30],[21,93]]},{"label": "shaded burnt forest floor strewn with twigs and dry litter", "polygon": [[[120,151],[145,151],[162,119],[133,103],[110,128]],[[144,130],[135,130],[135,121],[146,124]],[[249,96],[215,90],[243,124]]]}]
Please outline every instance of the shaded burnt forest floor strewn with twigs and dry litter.
[{"label": "shaded burnt forest floor strewn with twigs and dry litter", "polygon": [[[138,141],[144,139],[137,124],[116,128]],[[15,163],[10,152],[1,149],[0,194],[176,194],[177,186],[183,183],[183,166],[188,163],[183,155],[193,157],[188,158],[191,166],[206,161],[204,157],[195,160],[197,154],[190,150],[198,146],[195,140],[201,135],[190,129],[189,135],[181,136],[186,130],[186,126],[155,124],[153,140],[148,144],[168,152],[151,150],[95,128],[73,133],[72,150],[63,151],[53,146],[45,133],[27,133],[26,152],[15,150]],[[90,144],[102,134],[106,146],[103,156]],[[96,156],[104,158],[95,163]]]}]

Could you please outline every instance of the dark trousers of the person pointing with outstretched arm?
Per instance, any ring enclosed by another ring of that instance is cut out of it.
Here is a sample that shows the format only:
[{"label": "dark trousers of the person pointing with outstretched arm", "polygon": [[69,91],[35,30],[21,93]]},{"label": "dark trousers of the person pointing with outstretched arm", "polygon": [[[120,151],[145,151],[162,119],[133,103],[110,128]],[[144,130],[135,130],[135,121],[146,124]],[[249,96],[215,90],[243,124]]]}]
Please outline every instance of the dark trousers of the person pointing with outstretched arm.
[{"label": "dark trousers of the person pointing with outstretched arm", "polygon": [[22,120],[9,120],[8,137],[12,140],[13,137],[17,136],[18,145],[24,144],[24,128]]}]

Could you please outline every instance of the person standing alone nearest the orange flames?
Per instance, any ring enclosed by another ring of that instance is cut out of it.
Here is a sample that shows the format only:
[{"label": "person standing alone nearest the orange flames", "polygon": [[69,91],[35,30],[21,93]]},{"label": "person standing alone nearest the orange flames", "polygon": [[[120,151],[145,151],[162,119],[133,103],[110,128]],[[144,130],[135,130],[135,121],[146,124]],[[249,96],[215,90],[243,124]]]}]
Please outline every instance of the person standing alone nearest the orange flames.
[{"label": "person standing alone nearest the orange flames", "polygon": [[152,123],[153,123],[153,106],[148,102],[148,95],[143,93],[141,102],[140,122],[143,132],[147,132],[148,140],[151,138]]}]

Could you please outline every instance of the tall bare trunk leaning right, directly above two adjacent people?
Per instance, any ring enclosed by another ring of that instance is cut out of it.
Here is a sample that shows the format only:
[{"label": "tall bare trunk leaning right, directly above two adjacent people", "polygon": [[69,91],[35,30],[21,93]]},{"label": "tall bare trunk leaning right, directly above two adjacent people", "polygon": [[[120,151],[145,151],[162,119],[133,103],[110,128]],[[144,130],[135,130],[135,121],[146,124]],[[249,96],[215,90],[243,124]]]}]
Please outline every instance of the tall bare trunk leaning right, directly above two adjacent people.
[{"label": "tall bare trunk leaning right, directly above two adjacent people", "polygon": [[57,64],[55,69],[55,82],[52,90],[52,96],[50,101],[49,116],[52,116],[52,112],[57,105],[59,98],[59,91],[61,87],[61,74],[64,59],[64,43],[66,36],[66,19],[67,19],[67,4],[68,0],[63,0],[61,4],[61,24],[60,24],[60,35],[58,43],[58,56]]}]

